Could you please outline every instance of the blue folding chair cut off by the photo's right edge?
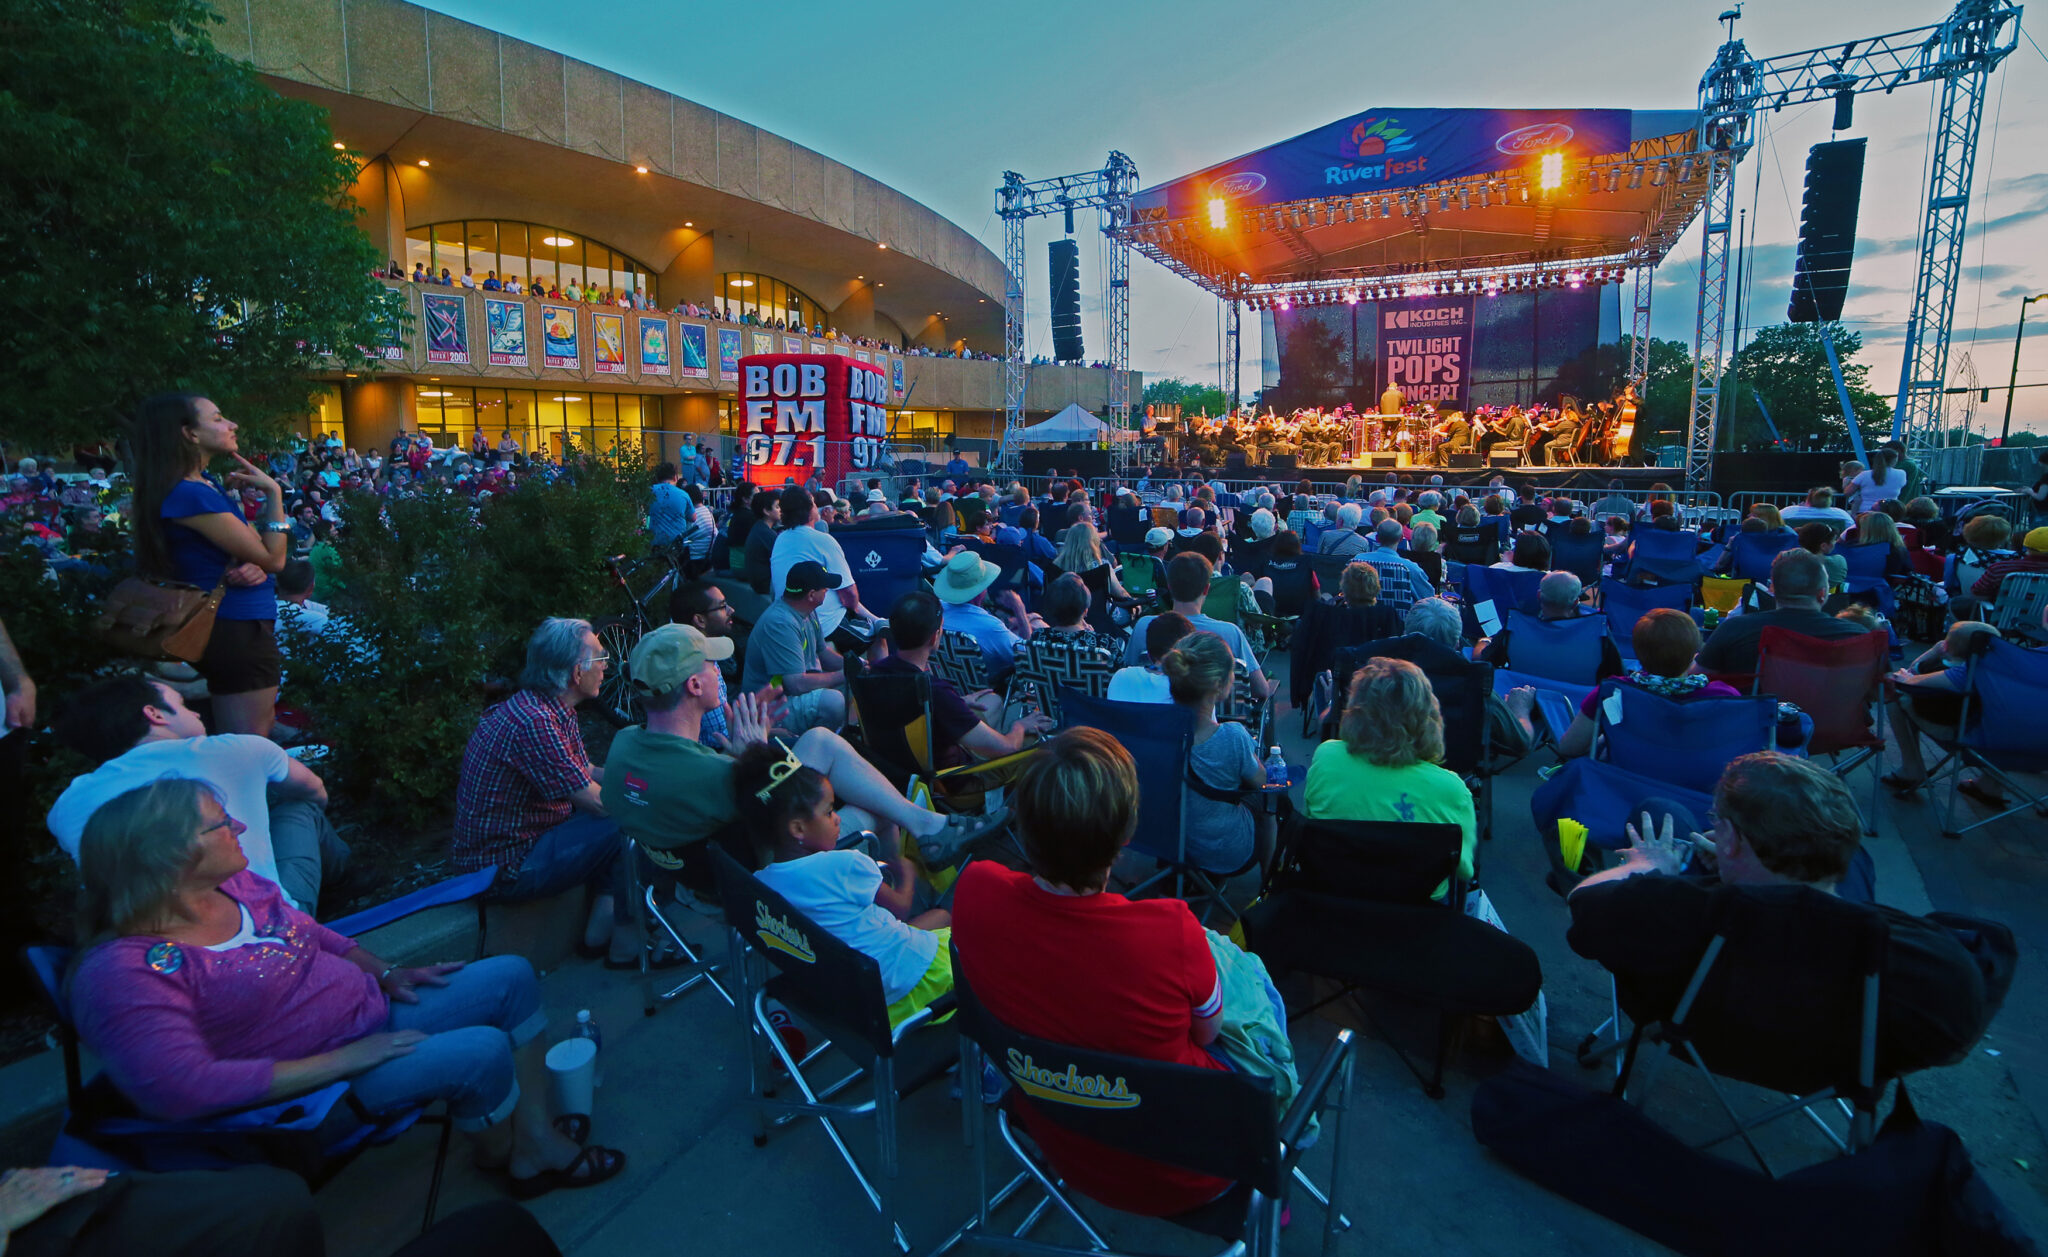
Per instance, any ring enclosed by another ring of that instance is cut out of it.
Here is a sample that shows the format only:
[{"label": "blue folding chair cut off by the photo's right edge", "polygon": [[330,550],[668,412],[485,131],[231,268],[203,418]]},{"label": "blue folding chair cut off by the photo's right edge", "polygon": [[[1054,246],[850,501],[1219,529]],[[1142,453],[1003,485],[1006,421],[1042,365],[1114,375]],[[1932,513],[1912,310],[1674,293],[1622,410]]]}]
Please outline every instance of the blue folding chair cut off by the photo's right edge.
[{"label": "blue folding chair cut off by the photo's right edge", "polygon": [[[1915,688],[1896,684],[1901,694],[1913,694]],[[1933,782],[1944,772],[1950,778],[1948,807],[1942,813],[1944,837],[1962,837],[2030,807],[2048,815],[2048,792],[2030,790],[2013,780],[2015,772],[2048,772],[2048,723],[2040,719],[2042,710],[2048,710],[2048,651],[2025,649],[1989,633],[1970,635],[1964,657],[1960,733],[1946,739],[1921,729],[1921,735],[1942,749],[1942,760],[1933,764],[1921,784]],[[2019,803],[1958,829],[1956,786],[1966,768],[1987,774],[2005,790],[2007,798]]]}]

